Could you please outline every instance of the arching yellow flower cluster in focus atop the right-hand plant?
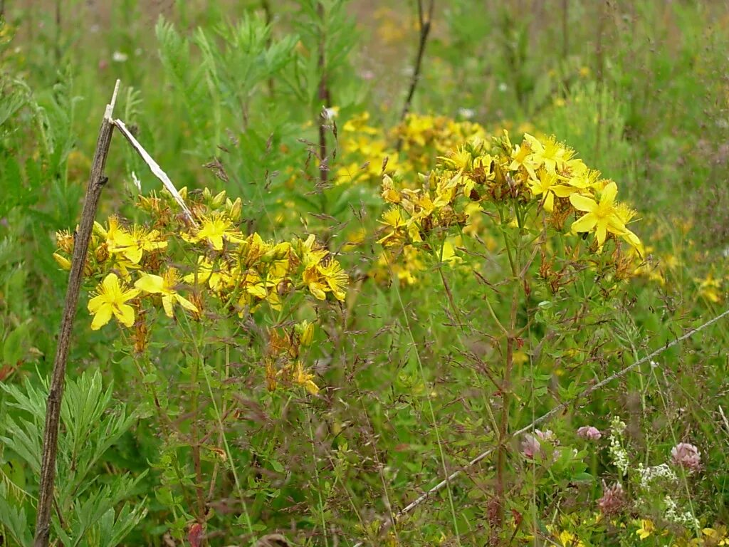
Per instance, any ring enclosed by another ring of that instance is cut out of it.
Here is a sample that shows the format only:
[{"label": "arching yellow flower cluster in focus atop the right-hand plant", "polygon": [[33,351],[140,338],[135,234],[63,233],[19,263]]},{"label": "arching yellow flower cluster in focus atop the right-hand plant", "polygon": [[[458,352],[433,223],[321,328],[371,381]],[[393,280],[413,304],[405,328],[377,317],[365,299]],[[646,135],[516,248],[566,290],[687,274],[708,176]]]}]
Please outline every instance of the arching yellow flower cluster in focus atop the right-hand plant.
[{"label": "arching yellow flower cluster in focus atop the right-hand plant", "polygon": [[467,209],[478,204],[509,203],[531,217],[516,214],[521,227],[546,220],[563,230],[574,215],[572,233],[594,233],[595,249],[609,239],[625,241],[642,252],[639,238],[627,228],[635,212],[616,201],[617,185],[588,168],[575,152],[553,138],[537,139],[528,133],[520,144],[512,144],[507,132],[487,143],[472,139],[439,158],[428,175],[421,175],[416,189],[396,187],[384,176],[382,197],[393,206],[383,214],[385,247],[400,247],[424,241],[434,230],[467,224]]}]

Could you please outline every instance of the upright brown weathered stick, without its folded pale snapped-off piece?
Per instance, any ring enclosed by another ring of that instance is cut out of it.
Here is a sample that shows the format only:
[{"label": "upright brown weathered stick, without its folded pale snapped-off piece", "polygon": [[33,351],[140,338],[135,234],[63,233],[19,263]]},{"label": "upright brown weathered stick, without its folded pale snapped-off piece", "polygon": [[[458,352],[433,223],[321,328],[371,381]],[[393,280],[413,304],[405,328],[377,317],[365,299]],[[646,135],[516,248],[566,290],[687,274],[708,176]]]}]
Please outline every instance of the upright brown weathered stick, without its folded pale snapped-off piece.
[{"label": "upright brown weathered stick, without its folded pale snapped-off piece", "polygon": [[112,101],[106,105],[104,120],[98,132],[96,151],[91,165],[89,184],[86,188],[84,208],[81,214],[79,228],[74,234],[74,256],[71,260],[71,273],[69,274],[69,288],[66,290],[66,303],[63,307],[61,319],[61,332],[58,334],[53,372],[48,392],[46,407],[46,422],[43,434],[43,461],[41,467],[40,492],[38,496],[38,510],[36,512],[35,547],[46,547],[50,536],[50,516],[53,505],[53,485],[55,482],[55,460],[58,454],[58,426],[61,422],[61,399],[63,398],[63,382],[66,378],[66,361],[69,357],[71,345],[71,330],[73,329],[76,309],[79,302],[79,290],[83,280],[86,253],[91,239],[93,222],[96,216],[101,190],[106,184],[104,166],[106,156],[109,155],[109,144],[112,142],[114,123],[112,112],[117,101],[119,80],[114,87]]}]

